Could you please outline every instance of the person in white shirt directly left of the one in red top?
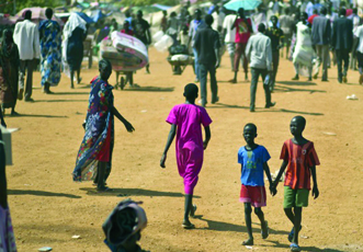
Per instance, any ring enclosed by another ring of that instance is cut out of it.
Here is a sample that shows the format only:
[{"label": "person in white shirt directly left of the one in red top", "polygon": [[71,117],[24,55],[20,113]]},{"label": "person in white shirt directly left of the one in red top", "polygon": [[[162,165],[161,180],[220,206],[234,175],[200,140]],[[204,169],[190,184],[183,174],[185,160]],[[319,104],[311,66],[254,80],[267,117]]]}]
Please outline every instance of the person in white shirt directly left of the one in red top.
[{"label": "person in white shirt directly left of the one in red top", "polygon": [[230,58],[230,67],[231,70],[235,69],[235,37],[236,37],[236,28],[230,28],[235,23],[236,14],[226,15],[223,22],[223,34],[225,37],[225,43],[227,47],[227,51]]}]

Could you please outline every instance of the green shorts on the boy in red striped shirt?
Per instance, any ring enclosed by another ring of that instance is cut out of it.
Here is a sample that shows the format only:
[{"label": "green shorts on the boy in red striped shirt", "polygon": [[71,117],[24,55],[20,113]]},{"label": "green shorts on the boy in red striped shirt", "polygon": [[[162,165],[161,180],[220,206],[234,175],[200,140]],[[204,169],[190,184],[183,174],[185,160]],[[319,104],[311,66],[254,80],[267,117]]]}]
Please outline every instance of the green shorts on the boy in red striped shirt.
[{"label": "green shorts on the boy in red striped shirt", "polygon": [[284,208],[307,207],[309,203],[309,190],[293,190],[284,186]]}]

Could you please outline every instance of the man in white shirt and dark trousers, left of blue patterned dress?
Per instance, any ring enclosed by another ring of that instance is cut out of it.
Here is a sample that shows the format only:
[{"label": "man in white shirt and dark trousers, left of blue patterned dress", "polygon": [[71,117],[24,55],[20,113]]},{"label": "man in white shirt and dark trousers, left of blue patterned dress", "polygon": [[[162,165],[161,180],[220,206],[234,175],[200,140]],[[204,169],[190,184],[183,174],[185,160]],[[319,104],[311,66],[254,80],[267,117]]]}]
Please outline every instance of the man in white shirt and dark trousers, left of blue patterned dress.
[{"label": "man in white shirt and dark trousers, left of blue patterned dress", "polygon": [[24,101],[32,102],[33,90],[33,69],[36,66],[35,60],[39,59],[41,45],[39,34],[36,24],[32,23],[32,12],[30,10],[24,13],[24,21],[19,22],[14,28],[14,42],[19,48],[20,56],[20,77],[19,77],[19,95],[18,99],[23,99],[24,92],[24,76],[26,70],[26,85]]}]

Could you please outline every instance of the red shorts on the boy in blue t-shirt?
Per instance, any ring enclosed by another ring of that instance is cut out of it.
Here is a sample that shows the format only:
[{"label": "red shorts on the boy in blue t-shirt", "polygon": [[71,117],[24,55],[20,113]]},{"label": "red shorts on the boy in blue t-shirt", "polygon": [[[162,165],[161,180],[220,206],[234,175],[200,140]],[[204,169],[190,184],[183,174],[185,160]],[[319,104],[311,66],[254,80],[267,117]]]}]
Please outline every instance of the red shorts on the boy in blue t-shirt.
[{"label": "red shorts on the boy in blue t-shirt", "polygon": [[241,185],[239,201],[253,207],[266,206],[266,191],[264,186]]}]

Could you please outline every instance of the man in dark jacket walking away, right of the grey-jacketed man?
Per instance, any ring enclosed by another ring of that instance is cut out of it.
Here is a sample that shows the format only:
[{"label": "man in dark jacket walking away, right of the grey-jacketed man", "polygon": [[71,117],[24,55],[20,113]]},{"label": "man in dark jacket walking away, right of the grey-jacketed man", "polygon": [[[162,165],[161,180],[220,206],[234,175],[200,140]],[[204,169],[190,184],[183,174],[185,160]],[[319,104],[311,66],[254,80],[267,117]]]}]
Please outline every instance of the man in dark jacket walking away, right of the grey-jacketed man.
[{"label": "man in dark jacket walking away, right of the grey-jacketed man", "polygon": [[[349,53],[353,46],[353,22],[345,18],[345,9],[339,10],[339,18],[332,24],[331,46],[336,50],[338,65],[338,81],[347,83]],[[342,70],[344,61],[344,70]]]}]

